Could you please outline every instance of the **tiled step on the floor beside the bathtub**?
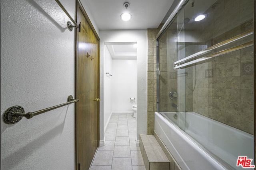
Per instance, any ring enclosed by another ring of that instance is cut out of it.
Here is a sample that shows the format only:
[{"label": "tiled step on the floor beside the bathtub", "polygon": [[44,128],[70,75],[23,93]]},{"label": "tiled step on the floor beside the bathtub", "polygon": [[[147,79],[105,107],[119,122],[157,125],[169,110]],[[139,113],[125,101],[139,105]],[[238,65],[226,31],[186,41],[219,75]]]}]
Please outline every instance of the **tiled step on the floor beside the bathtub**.
[{"label": "tiled step on the floor beside the bathtub", "polygon": [[140,151],[146,170],[170,169],[170,162],[153,135],[140,135]]}]

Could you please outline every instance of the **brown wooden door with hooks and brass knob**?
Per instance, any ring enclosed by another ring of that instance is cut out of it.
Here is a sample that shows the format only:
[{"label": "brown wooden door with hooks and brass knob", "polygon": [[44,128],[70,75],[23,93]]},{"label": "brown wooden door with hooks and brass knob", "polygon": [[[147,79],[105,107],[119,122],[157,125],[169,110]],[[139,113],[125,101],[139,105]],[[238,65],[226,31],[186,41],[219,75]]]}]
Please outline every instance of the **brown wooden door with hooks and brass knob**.
[{"label": "brown wooden door with hooks and brass knob", "polygon": [[99,144],[99,37],[78,4],[76,36],[76,166],[88,170]]}]

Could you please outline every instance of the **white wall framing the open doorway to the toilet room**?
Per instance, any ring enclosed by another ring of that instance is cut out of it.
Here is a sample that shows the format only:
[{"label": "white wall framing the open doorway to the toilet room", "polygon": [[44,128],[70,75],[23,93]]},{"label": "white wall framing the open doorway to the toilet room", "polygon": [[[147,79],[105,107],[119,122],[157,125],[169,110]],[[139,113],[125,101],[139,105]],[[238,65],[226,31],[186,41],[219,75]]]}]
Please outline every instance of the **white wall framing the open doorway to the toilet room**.
[{"label": "white wall framing the open doorway to the toilet room", "polygon": [[[104,42],[137,42],[137,139],[147,132],[147,30],[100,31],[100,98],[104,98]],[[106,74],[106,73],[105,73]],[[114,76],[114,74],[113,74]],[[104,103],[100,103],[104,108]],[[100,109],[100,141],[104,140],[104,111]]]}]

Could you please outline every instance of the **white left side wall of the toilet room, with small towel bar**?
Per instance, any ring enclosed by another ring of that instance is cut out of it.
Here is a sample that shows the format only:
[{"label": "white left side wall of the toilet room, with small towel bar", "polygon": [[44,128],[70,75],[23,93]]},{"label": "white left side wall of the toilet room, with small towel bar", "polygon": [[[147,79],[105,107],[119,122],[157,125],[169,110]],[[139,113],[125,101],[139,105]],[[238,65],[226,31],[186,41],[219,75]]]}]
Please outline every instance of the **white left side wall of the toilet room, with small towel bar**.
[{"label": "white left side wall of the toilet room, with small towel bar", "polygon": [[110,119],[112,113],[112,79],[113,76],[106,75],[106,72],[112,74],[112,57],[108,51],[108,48],[105,48],[104,57],[104,131],[106,131],[106,126]]}]

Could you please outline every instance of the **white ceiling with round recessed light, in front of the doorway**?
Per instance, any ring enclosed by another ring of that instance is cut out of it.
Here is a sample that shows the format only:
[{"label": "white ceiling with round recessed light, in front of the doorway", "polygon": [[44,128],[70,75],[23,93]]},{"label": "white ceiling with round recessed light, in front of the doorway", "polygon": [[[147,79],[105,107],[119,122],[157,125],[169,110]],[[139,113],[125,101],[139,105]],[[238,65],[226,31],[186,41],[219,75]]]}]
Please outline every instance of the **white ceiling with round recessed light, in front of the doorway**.
[{"label": "white ceiling with round recessed light, in front of the doorway", "polygon": [[[174,0],[87,0],[98,29],[148,29],[157,28]],[[124,3],[130,6],[124,8]],[[132,19],[122,21],[124,12],[132,14]]]}]

